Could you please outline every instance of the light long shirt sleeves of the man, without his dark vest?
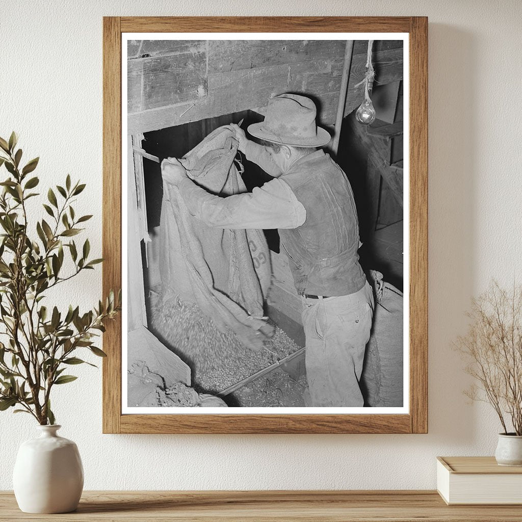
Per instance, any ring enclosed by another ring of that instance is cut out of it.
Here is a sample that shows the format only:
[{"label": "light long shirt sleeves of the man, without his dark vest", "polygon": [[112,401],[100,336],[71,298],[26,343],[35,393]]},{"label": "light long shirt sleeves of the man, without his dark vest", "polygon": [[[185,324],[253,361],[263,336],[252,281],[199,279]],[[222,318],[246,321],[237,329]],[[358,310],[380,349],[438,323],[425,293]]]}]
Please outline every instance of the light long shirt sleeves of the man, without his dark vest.
[{"label": "light long shirt sleeves of the man, without his dark vest", "polygon": [[[268,174],[277,172],[263,146],[248,143],[246,157]],[[306,220],[306,210],[292,189],[277,177],[250,193],[220,197],[190,179],[178,185],[188,211],[210,227],[227,229],[293,229]]]}]

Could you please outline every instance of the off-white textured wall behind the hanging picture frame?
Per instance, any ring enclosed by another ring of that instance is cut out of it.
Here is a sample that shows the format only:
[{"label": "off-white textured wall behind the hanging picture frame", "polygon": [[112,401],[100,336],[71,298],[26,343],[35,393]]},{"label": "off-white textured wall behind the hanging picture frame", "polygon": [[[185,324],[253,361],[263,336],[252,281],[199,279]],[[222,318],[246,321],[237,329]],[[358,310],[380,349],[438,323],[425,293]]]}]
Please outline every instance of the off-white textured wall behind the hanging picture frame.
[{"label": "off-white textured wall behind the hanging picture frame", "polygon": [[[186,7],[184,7],[186,6]],[[430,433],[427,435],[149,436],[101,434],[101,375],[81,367],[54,410],[84,460],[87,489],[421,489],[436,455],[491,455],[493,413],[468,405],[452,341],[464,311],[495,277],[522,277],[519,2],[404,0],[4,0],[0,135],[41,156],[42,185],[67,172],[88,182],[77,212],[101,250],[103,15],[428,15],[430,17]],[[90,210],[87,212],[87,210]],[[57,297],[97,302],[100,270]],[[426,296],[428,298],[428,296]],[[0,413],[0,489],[15,448],[35,432]]]}]

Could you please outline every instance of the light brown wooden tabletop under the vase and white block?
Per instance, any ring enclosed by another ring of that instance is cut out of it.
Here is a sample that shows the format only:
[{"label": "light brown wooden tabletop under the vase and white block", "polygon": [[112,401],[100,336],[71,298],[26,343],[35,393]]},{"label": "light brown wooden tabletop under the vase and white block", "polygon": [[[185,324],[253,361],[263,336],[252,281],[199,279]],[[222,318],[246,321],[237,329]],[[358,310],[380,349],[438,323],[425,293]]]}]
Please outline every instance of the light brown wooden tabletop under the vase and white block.
[{"label": "light brown wooden tabletop under the vase and white block", "polygon": [[0,520],[520,522],[522,506],[447,506],[436,491],[85,491],[74,513],[30,515],[9,491]]}]

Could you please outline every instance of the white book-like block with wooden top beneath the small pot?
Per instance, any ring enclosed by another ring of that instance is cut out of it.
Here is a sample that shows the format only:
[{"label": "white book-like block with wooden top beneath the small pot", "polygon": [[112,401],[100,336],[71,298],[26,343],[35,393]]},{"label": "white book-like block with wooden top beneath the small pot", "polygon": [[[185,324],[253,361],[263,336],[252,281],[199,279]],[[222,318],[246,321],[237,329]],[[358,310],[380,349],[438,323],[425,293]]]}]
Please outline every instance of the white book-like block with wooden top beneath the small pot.
[{"label": "white book-like block with wooden top beneath the small pot", "polygon": [[437,491],[446,504],[522,504],[522,467],[499,466],[495,457],[437,457]]}]

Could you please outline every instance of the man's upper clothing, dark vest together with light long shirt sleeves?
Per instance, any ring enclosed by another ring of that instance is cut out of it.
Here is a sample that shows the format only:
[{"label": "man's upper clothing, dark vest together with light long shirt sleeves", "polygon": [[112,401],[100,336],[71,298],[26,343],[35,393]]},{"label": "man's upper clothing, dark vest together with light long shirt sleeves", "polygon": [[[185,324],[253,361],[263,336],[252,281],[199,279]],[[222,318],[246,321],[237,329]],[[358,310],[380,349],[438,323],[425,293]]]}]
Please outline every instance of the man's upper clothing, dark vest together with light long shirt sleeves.
[{"label": "man's upper clothing, dark vest together with light long shirt sleeves", "polygon": [[[246,157],[280,175],[263,146],[251,141]],[[298,158],[288,172],[250,194],[221,198],[188,179],[179,188],[189,212],[210,226],[279,229],[299,294],[350,295],[364,286],[353,192],[322,149]]]}]

